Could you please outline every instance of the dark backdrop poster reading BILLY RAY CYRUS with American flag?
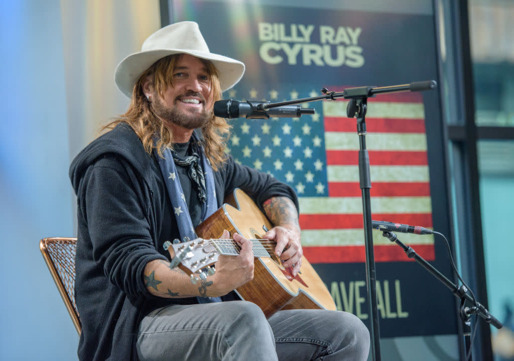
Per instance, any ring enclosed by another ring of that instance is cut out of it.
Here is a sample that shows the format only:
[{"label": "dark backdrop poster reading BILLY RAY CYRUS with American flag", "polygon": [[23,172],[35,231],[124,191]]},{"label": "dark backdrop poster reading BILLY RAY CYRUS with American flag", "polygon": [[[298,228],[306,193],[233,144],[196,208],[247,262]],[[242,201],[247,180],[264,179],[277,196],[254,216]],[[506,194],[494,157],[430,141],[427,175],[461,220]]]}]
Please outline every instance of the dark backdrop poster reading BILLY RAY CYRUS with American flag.
[{"label": "dark backdrop poster reading BILLY RAY CYRUS with American flag", "polygon": [[[282,101],[321,95],[322,87],[438,80],[433,14],[218,1],[169,6],[173,22],[199,23],[211,51],[246,64],[225,99]],[[447,234],[438,91],[379,95],[368,104],[373,219]],[[305,256],[338,308],[369,322],[356,120],[346,118],[345,100],[305,106],[316,114],[231,120],[229,148],[240,163],[295,188]],[[398,238],[452,277],[444,240]],[[381,337],[455,335],[451,292],[379,231],[374,245]]]}]

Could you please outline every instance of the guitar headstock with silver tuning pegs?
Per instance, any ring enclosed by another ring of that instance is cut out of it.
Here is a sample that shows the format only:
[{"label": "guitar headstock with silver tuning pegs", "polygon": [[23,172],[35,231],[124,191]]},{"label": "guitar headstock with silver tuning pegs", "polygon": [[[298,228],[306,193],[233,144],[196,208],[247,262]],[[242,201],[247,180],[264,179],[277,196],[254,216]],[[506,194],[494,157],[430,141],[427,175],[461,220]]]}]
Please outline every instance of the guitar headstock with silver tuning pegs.
[{"label": "guitar headstock with silver tuning pegs", "polygon": [[170,268],[180,267],[190,275],[192,283],[196,283],[199,279],[205,280],[207,275],[214,274],[215,271],[211,265],[216,263],[219,253],[212,242],[203,238],[181,243],[175,243],[175,241],[173,243],[166,241],[163,245],[164,249],[170,252]]}]

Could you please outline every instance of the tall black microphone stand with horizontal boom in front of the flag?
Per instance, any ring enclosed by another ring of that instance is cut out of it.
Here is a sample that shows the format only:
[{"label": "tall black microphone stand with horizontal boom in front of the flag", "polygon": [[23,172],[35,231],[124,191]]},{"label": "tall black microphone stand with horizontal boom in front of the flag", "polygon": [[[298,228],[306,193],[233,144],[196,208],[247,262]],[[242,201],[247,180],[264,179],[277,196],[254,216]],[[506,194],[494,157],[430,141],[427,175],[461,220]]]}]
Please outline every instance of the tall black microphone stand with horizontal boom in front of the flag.
[{"label": "tall black microphone stand with horizontal boom in front of the flag", "polygon": [[368,297],[370,299],[370,335],[371,335],[371,351],[374,361],[380,361],[380,331],[378,324],[378,308],[376,293],[376,272],[375,272],[375,256],[373,253],[373,233],[371,220],[371,177],[370,177],[370,159],[368,150],[366,149],[366,122],[365,115],[368,109],[368,98],[375,97],[377,94],[398,93],[398,92],[420,92],[431,90],[436,87],[434,80],[413,82],[410,84],[393,85],[393,86],[361,86],[356,88],[348,88],[343,92],[329,92],[323,88],[321,92],[325,95],[318,97],[302,98],[297,100],[289,100],[278,103],[261,103],[258,109],[267,111],[273,107],[306,103],[316,100],[337,98],[350,99],[346,106],[346,115],[348,118],[357,118],[357,135],[359,136],[359,180],[362,193],[362,210],[364,220],[364,245],[366,252],[366,284],[368,286]]}]

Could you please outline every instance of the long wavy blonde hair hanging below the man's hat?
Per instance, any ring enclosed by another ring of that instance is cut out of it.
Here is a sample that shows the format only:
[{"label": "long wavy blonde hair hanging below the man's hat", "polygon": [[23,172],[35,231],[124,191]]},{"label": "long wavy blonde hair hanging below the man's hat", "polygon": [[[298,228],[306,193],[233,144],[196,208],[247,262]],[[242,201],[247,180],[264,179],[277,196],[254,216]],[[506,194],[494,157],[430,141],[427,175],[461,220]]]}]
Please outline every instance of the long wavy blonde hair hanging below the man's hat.
[{"label": "long wavy blonde hair hanging below the man's hat", "polygon": [[[100,132],[103,133],[112,130],[121,122],[128,123],[128,125],[134,129],[139,139],[141,139],[146,152],[151,154],[152,149],[155,147],[157,148],[158,154],[163,157],[163,150],[173,147],[173,133],[169,128],[164,126],[162,120],[152,111],[150,102],[143,93],[142,85],[146,77],[151,77],[155,89],[157,89],[157,93],[162,98],[167,87],[173,85],[173,72],[180,56],[181,54],[176,54],[159,59],[150,66],[150,68],[144,71],[134,85],[128,110],[115,118],[114,121],[102,127]],[[220,100],[222,92],[219,85],[218,71],[210,61],[204,59],[200,60],[207,68],[207,73],[211,81],[213,100]],[[225,149],[230,128],[231,126],[224,118],[219,118],[214,115],[201,127],[203,135],[202,146],[214,171],[227,159]],[[153,140],[154,134],[160,137],[155,146]]]}]

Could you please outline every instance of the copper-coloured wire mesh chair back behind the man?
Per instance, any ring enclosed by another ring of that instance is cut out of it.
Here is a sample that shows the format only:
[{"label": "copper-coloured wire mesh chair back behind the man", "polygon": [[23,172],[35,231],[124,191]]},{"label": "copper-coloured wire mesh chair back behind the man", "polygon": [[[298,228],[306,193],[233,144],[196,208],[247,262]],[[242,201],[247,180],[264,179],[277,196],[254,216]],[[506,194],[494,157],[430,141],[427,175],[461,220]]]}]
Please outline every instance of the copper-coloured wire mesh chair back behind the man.
[{"label": "copper-coloured wire mesh chair back behind the man", "polygon": [[77,304],[75,302],[75,253],[77,250],[76,238],[44,238],[39,248],[50,270],[53,281],[66,305],[66,309],[80,335],[80,323]]}]

